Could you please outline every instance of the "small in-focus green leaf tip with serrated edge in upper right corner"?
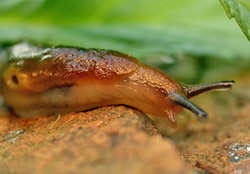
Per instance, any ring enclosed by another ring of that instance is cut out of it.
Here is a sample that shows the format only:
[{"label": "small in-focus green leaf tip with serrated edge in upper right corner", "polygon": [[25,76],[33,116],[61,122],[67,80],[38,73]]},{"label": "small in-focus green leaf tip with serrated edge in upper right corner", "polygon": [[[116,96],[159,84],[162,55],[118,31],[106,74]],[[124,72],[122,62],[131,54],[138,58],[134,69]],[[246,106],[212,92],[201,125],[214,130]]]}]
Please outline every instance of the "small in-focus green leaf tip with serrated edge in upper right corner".
[{"label": "small in-focus green leaf tip with serrated edge in upper right corner", "polygon": [[250,41],[250,1],[247,0],[220,0],[228,18],[235,18],[241,30]]}]

